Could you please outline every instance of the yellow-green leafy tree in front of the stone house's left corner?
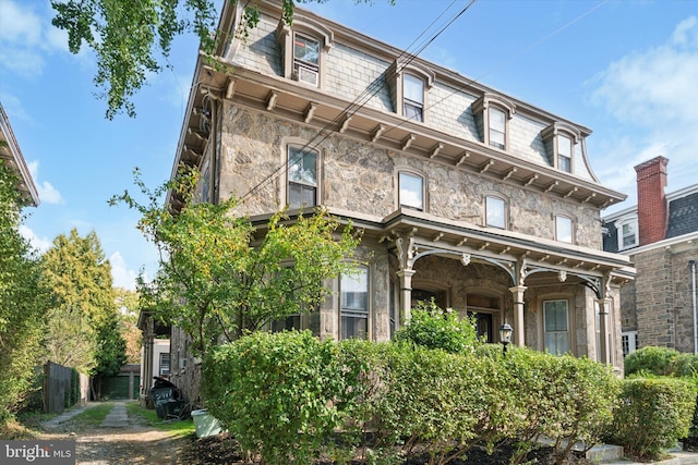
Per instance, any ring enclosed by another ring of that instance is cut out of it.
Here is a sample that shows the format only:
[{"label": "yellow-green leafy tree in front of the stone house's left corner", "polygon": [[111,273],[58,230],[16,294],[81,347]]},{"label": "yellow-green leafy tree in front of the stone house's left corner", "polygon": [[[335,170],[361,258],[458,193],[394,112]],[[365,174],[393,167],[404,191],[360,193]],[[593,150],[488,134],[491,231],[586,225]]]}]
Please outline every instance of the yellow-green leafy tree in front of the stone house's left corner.
[{"label": "yellow-green leafy tree in front of the stone house's left corner", "polygon": [[[204,354],[219,338],[238,339],[286,316],[315,308],[327,295],[323,281],[349,273],[345,261],[358,245],[351,225],[325,210],[291,220],[272,216],[266,231],[236,215],[234,198],[220,205],[194,204],[198,173],[180,173],[151,192],[136,170],[135,184],[149,199],[140,204],[128,191],[111,199],[142,215],[139,228],[160,252],[152,282],[140,279],[142,308],[191,335]],[[168,189],[183,195],[174,212],[159,199]]]}]

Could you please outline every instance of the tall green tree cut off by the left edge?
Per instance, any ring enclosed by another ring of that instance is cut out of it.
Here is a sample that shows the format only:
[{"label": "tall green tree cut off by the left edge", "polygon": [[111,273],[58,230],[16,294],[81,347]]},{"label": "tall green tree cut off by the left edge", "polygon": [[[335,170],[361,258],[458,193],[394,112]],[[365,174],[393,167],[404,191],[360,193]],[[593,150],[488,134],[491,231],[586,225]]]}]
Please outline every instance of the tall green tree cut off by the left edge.
[{"label": "tall green tree cut off by the left edge", "polygon": [[38,257],[19,232],[17,184],[0,160],[0,425],[29,392],[49,302]]}]

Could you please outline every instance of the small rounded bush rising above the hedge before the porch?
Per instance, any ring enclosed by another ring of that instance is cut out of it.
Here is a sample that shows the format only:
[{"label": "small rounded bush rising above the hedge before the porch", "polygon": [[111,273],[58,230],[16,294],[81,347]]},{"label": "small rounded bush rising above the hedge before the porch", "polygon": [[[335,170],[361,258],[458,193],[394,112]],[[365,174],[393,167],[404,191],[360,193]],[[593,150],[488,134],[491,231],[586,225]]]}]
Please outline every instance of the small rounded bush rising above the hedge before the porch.
[{"label": "small rounded bush rising above the hedge before the porch", "polygon": [[472,352],[478,341],[474,322],[460,318],[453,309],[441,309],[434,301],[420,302],[410,320],[395,335],[396,341],[411,342],[452,354]]}]

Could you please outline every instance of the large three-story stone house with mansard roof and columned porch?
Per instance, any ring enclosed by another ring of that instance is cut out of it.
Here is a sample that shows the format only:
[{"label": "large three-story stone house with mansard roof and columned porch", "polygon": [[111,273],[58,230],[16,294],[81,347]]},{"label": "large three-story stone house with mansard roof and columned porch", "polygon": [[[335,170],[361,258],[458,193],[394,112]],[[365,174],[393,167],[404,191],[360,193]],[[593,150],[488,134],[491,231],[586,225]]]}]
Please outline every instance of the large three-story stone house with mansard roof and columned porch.
[{"label": "large three-story stone house with mansard roof and columned porch", "polygon": [[[591,170],[591,131],[301,9],[288,26],[279,3],[260,1],[241,40],[241,7],[225,2],[216,58],[230,66],[200,57],[172,169],[198,167],[198,198],[240,197],[255,224],[322,205],[362,231],[368,265],[275,327],[387,341],[433,297],[489,341],[508,322],[517,345],[622,370],[635,270],[601,247],[600,212],[625,196]],[[177,330],[172,367],[196,401]]]}]

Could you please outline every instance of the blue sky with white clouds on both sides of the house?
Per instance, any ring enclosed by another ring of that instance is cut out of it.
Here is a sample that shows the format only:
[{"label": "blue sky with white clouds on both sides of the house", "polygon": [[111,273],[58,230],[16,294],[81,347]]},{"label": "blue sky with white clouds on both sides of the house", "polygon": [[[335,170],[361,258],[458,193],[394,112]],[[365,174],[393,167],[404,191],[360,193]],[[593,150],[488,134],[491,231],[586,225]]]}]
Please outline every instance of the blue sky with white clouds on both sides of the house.
[{"label": "blue sky with white clouds on both sides of the house", "polygon": [[[409,48],[467,3],[308,8]],[[71,54],[51,17],[48,0],[0,0],[0,101],[41,198],[23,233],[44,250],[72,228],[96,231],[115,284],[133,289],[142,267],[153,274],[157,253],[135,229],[139,216],[107,200],[134,191],[136,167],[152,188],[169,176],[196,42],[176,42],[173,71],[153,75],[134,98],[135,120],[108,121],[94,57]],[[628,195],[603,213],[635,203],[633,167],[659,155],[670,160],[669,192],[698,182],[698,0],[478,0],[421,57],[591,129],[594,173]]]}]

